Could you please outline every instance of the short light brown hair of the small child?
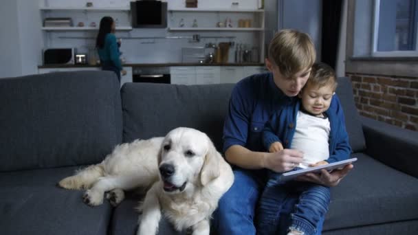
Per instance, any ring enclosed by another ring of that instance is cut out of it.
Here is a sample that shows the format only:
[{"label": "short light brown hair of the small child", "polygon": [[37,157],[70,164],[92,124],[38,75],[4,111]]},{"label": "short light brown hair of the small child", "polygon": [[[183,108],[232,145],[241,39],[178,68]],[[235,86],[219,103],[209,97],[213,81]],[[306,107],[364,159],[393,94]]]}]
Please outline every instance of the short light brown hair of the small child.
[{"label": "short light brown hair of the small child", "polygon": [[312,65],[311,74],[307,83],[318,87],[324,87],[332,84],[335,91],[337,88],[336,71],[325,63],[314,63],[314,65]]}]

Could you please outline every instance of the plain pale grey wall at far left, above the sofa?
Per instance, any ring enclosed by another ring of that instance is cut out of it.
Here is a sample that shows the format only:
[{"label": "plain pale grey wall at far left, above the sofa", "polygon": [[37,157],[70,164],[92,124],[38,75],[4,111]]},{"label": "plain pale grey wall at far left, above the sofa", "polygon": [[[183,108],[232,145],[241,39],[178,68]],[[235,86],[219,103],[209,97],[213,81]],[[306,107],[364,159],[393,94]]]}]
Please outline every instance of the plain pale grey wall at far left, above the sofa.
[{"label": "plain pale grey wall at far left, above the sofa", "polygon": [[36,1],[3,0],[0,78],[36,74],[41,63],[41,18]]}]

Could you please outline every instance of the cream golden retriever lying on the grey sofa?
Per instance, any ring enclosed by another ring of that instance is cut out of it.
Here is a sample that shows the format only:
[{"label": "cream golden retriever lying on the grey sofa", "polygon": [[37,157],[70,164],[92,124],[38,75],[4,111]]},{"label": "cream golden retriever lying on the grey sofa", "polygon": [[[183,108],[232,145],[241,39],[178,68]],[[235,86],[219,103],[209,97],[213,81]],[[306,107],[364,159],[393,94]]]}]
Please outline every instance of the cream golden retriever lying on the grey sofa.
[{"label": "cream golden retriever lying on the grey sofa", "polygon": [[100,205],[104,192],[112,205],[123,190],[148,189],[137,234],[156,234],[162,213],[176,228],[209,234],[209,219],[221,196],[232,186],[229,164],[209,137],[192,128],[175,128],[166,137],[135,140],[117,146],[102,163],[58,183],[87,189],[85,203]]}]

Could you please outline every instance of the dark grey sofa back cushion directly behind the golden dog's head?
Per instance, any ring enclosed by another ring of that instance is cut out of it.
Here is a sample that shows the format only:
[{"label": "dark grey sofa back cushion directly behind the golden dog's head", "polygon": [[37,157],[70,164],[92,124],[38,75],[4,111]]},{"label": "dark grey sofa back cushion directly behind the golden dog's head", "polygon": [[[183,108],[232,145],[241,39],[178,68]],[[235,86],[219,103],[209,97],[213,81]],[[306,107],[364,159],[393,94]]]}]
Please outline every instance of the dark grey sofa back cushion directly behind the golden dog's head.
[{"label": "dark grey sofa back cushion directly behind the golden dog's head", "polygon": [[232,87],[125,83],[121,91],[123,141],[164,136],[173,128],[186,126],[208,134],[221,150]]}]

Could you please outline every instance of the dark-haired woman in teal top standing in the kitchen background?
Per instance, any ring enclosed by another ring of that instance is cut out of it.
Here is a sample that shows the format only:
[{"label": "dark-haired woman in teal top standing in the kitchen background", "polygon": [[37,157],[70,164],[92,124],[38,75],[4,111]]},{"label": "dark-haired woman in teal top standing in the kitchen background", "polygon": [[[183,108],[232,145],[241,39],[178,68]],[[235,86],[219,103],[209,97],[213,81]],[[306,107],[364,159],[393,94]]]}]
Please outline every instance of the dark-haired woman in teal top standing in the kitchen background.
[{"label": "dark-haired woman in teal top standing in the kitchen background", "polygon": [[96,48],[103,70],[114,71],[120,82],[120,74],[126,74],[120,63],[119,44],[115,36],[115,21],[111,16],[104,16],[100,20],[99,33],[96,38]]}]

